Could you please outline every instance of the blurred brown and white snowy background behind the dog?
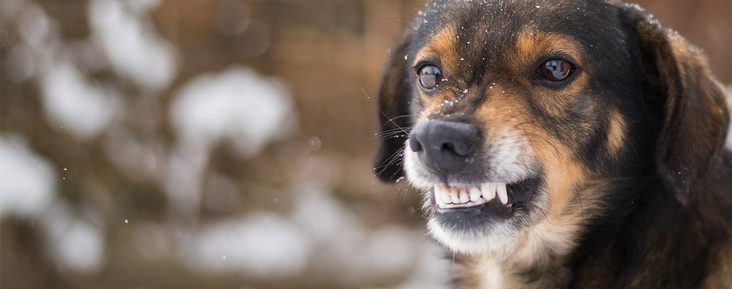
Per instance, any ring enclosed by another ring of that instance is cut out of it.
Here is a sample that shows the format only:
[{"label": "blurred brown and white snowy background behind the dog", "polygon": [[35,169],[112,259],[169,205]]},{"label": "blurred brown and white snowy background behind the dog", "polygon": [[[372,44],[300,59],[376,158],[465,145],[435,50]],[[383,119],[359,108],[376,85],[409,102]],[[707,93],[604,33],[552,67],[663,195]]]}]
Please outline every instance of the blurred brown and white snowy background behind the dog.
[{"label": "blurred brown and white snowy background behind the dog", "polygon": [[[732,83],[732,1],[640,4]],[[370,163],[424,5],[0,0],[0,287],[443,288]]]}]

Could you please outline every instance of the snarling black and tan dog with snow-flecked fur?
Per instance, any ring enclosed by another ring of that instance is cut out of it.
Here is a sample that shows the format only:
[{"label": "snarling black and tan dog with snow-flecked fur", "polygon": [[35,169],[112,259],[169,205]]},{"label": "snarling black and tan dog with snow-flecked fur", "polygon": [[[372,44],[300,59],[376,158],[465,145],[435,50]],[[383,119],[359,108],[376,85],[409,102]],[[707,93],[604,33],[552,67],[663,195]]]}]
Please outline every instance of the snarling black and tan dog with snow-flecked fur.
[{"label": "snarling black and tan dog with snow-flecked fur", "polygon": [[613,0],[428,2],[378,89],[374,170],[424,193],[456,288],[732,288],[730,107]]}]

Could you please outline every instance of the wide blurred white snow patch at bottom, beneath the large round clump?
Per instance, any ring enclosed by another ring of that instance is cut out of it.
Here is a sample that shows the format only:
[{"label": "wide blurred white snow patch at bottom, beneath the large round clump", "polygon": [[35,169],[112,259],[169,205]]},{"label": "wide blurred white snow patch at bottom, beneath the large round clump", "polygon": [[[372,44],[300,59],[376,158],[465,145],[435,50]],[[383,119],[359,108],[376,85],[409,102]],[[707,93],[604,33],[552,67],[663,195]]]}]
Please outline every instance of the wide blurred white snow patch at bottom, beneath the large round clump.
[{"label": "wide blurred white snow patch at bottom, beneath the large round clump", "polygon": [[188,266],[267,279],[301,273],[312,250],[310,241],[294,225],[269,213],[204,225],[190,241],[182,247]]}]

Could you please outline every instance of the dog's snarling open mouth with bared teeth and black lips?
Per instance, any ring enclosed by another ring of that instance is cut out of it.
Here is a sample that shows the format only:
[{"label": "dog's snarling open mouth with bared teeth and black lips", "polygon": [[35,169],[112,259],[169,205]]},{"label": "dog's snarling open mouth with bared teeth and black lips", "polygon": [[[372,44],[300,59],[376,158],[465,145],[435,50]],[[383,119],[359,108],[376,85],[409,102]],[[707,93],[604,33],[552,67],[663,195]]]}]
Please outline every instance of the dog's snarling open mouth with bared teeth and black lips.
[{"label": "dog's snarling open mouth with bared teeth and black lips", "polygon": [[485,182],[472,186],[436,184],[432,204],[437,214],[475,211],[482,214],[507,215],[520,208],[539,188],[539,178],[531,177],[513,183]]}]

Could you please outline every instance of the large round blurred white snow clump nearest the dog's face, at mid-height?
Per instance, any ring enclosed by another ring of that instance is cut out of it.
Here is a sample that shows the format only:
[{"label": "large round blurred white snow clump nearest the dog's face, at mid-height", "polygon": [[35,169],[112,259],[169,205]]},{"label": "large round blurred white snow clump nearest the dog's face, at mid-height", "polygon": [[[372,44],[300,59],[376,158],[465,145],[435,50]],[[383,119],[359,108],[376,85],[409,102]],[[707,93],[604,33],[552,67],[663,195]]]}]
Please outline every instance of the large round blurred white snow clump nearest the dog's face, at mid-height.
[{"label": "large round blurred white snow clump nearest the dog's face, at mid-height", "polygon": [[288,91],[244,67],[198,76],[176,94],[171,121],[184,143],[210,148],[231,140],[242,157],[294,130]]}]

